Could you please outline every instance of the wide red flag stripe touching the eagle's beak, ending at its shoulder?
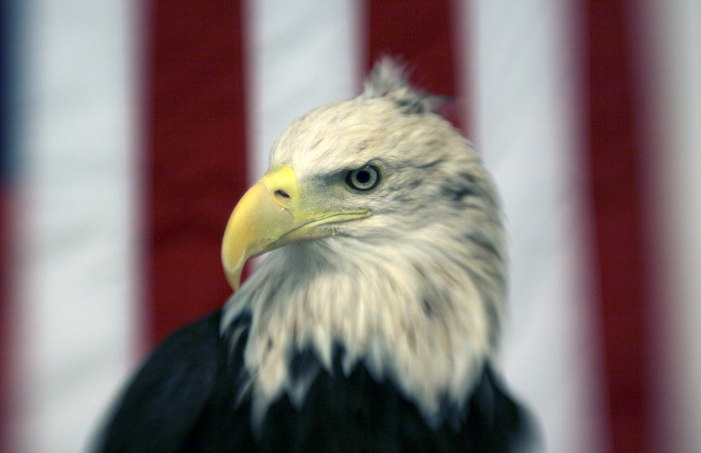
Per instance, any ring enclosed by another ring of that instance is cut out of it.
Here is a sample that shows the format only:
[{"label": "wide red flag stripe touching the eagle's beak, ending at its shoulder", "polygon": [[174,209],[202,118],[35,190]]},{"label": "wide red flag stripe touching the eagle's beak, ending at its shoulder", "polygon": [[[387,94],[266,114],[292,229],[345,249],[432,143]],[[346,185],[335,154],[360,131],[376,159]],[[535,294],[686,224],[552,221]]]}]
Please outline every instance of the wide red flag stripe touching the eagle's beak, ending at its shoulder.
[{"label": "wide red flag stripe touching the eagle's beak, ending at its shoulder", "polygon": [[147,11],[147,328],[151,344],[222,306],[219,250],[246,184],[240,1]]}]

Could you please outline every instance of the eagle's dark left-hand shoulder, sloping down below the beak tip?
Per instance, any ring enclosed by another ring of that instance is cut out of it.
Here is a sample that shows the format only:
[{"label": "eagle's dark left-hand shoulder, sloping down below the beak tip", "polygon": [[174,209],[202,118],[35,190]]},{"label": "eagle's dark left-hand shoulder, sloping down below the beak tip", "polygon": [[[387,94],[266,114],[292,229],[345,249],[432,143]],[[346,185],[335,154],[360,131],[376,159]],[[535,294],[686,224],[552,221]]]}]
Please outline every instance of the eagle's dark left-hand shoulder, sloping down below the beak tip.
[{"label": "eagle's dark left-hand shoulder, sloping down below the beak tip", "polygon": [[219,311],[170,335],[125,386],[97,452],[178,451],[210,398],[226,349]]}]

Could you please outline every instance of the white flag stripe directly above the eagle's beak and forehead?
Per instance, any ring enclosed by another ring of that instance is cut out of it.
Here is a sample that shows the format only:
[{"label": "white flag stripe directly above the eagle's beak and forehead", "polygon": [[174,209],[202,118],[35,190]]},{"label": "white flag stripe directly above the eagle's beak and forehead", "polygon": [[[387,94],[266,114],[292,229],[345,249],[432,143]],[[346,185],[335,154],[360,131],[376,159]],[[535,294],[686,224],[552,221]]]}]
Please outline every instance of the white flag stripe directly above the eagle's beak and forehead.
[{"label": "white flag stripe directly above the eagle's beak and forehead", "polygon": [[311,109],[358,94],[352,0],[248,0],[249,175],[256,181],[285,127]]}]

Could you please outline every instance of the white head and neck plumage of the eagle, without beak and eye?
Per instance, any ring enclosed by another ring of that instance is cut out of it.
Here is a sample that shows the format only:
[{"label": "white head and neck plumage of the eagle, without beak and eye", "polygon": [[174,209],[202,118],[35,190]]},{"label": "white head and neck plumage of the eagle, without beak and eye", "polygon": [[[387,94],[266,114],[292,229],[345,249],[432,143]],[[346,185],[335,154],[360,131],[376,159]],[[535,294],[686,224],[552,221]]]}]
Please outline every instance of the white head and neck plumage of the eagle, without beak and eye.
[{"label": "white head and neck plumage of the eagle, without beak and eye", "polygon": [[[290,379],[289,364],[310,347],[330,371],[341,344],[346,372],[362,362],[392,379],[433,423],[475,385],[505,305],[501,214],[489,174],[435,105],[383,60],[362,95],[294,120],[273,146],[271,167],[290,165],[319,203],[372,216],[272,251],[224,308],[222,331],[252,316],[254,419],[283,391],[304,400],[313,375]],[[381,184],[349,190],[343,174],[369,163]]]}]

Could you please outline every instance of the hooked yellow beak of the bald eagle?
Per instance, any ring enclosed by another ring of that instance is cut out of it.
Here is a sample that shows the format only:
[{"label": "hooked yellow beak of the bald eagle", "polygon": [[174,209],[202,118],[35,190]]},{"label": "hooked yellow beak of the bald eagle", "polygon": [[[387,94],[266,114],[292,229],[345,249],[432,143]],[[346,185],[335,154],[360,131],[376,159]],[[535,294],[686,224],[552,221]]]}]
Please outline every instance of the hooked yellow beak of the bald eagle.
[{"label": "hooked yellow beak of the bald eagle", "polygon": [[224,230],[222,264],[233,291],[248,258],[301,239],[331,234],[327,223],[370,215],[367,209],[329,211],[308,206],[291,167],[281,165],[266,173],[236,204]]}]

